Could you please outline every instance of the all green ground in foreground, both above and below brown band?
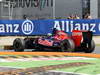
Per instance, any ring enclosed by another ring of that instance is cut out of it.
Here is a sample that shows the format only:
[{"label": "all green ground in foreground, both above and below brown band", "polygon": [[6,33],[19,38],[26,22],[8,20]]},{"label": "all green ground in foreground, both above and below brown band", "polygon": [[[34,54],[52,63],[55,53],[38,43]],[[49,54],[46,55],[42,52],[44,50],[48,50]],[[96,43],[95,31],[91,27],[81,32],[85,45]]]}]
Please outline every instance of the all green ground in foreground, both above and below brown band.
[{"label": "all green ground in foreground, both above and below brown band", "polygon": [[[4,55],[4,56],[6,56],[6,55]],[[85,74],[90,74],[90,75],[100,74],[100,59],[96,59],[96,58],[87,59],[87,60],[45,60],[45,61],[0,62],[0,66],[1,67],[3,67],[3,66],[4,67],[12,67],[12,68],[31,68],[31,67],[66,64],[66,63],[72,63],[72,62],[88,62],[88,63],[92,63],[92,64],[89,64],[86,66],[80,66],[80,67],[56,69],[56,71],[85,73]]]}]

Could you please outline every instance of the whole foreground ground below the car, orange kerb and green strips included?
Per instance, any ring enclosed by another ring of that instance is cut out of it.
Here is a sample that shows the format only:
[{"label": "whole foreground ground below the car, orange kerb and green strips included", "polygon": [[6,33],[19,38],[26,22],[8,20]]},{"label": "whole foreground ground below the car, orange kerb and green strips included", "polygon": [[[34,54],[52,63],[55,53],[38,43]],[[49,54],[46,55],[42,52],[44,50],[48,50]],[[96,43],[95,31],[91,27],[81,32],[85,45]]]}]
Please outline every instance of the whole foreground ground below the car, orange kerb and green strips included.
[{"label": "whole foreground ground below the car, orange kerb and green strips included", "polygon": [[[93,52],[95,54],[65,52],[44,53],[35,52],[34,50],[34,52],[32,52],[32,49],[26,49],[25,52],[22,53],[14,52],[14,50],[0,50],[0,75],[85,75],[90,73],[99,75],[99,48],[100,46],[96,46],[95,51]],[[21,55],[18,55],[18,53]],[[74,55],[82,57],[75,57]],[[87,70],[89,70],[89,72]]]}]

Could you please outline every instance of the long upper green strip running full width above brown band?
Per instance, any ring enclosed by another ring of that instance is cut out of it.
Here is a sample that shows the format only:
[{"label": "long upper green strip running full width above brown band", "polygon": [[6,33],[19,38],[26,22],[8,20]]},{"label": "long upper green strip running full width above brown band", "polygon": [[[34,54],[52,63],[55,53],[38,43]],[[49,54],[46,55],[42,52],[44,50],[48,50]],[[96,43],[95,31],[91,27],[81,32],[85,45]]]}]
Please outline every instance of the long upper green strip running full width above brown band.
[{"label": "long upper green strip running full width above brown band", "polygon": [[90,60],[48,60],[48,61],[25,61],[25,62],[0,62],[0,66],[11,66],[11,67],[21,67],[21,68],[29,68],[29,67],[40,67],[47,65],[57,65],[57,64],[65,64],[71,62],[91,62],[91,63],[100,63],[99,59],[90,59]]}]

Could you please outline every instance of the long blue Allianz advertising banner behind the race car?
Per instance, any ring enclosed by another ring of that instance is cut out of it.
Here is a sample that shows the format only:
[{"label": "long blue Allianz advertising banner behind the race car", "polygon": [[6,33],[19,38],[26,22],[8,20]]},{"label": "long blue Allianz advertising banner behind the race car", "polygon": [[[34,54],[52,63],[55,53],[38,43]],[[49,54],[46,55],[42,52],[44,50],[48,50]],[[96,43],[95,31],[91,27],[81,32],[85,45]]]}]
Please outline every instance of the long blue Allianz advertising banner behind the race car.
[{"label": "long blue Allianz advertising banner behind the race car", "polygon": [[90,30],[100,35],[100,20],[0,20],[0,35],[46,35],[52,28],[71,33],[72,30]]}]

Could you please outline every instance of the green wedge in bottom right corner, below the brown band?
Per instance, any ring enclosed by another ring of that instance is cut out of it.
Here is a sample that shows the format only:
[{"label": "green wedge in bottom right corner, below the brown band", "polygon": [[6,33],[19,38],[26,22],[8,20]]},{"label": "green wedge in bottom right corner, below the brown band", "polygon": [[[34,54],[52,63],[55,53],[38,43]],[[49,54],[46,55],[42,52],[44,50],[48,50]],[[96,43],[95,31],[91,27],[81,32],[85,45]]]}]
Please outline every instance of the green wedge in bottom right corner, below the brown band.
[{"label": "green wedge in bottom right corner, below the brown band", "polygon": [[100,74],[100,59],[95,61],[86,61],[86,62],[90,62],[93,64],[80,67],[73,67],[73,68],[57,69],[56,71],[84,73],[90,75]]}]

